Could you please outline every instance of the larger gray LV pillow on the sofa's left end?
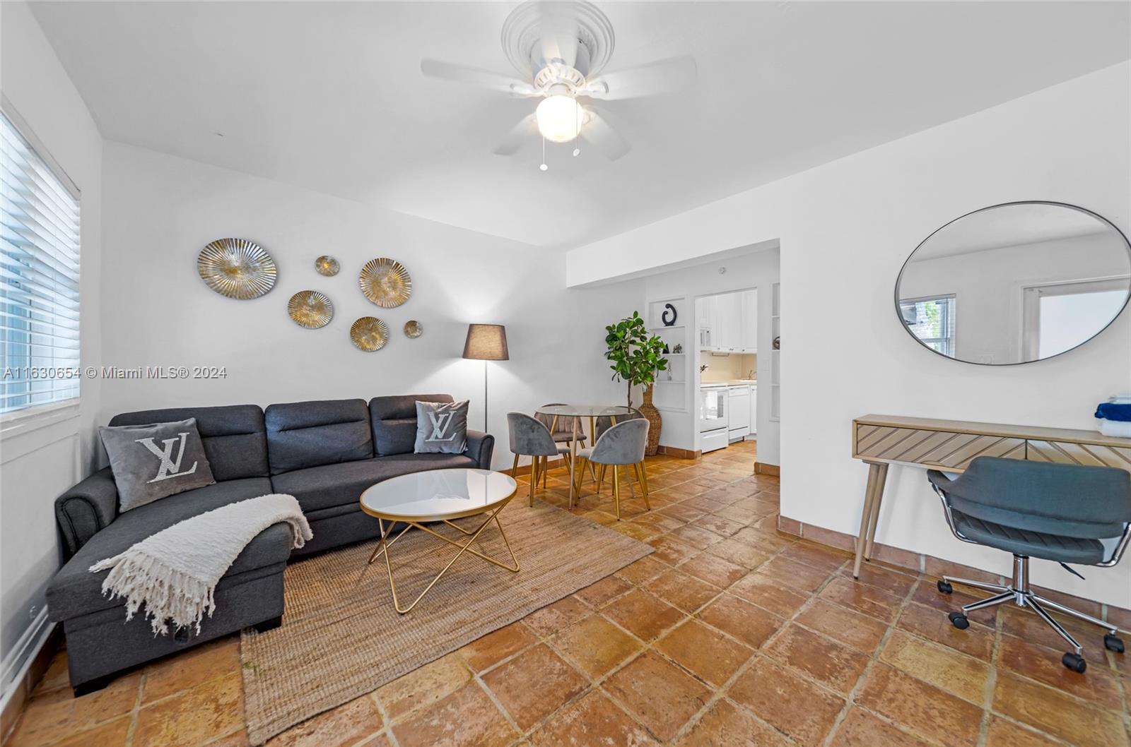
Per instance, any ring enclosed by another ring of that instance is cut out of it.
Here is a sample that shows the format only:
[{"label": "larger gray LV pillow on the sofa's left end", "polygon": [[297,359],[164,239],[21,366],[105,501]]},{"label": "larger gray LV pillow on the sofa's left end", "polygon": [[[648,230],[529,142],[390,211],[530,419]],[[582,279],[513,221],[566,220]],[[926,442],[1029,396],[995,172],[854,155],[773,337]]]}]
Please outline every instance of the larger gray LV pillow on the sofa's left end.
[{"label": "larger gray LV pillow on the sofa's left end", "polygon": [[216,481],[197,419],[98,428],[118,485],[120,511]]}]

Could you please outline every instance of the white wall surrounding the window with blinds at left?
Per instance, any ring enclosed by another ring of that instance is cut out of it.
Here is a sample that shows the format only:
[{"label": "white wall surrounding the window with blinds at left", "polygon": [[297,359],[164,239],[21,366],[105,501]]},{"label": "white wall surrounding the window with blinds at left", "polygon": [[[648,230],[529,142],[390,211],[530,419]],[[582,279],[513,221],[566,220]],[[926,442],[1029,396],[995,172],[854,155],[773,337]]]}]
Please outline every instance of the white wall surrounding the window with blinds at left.
[{"label": "white wall surrounding the window with blinds at left", "polygon": [[[102,137],[24,2],[0,3],[0,89],[81,191],[81,363],[101,363]],[[48,631],[43,592],[59,567],[53,502],[93,461],[97,382],[77,410],[36,426],[0,424],[0,658],[2,690]]]}]

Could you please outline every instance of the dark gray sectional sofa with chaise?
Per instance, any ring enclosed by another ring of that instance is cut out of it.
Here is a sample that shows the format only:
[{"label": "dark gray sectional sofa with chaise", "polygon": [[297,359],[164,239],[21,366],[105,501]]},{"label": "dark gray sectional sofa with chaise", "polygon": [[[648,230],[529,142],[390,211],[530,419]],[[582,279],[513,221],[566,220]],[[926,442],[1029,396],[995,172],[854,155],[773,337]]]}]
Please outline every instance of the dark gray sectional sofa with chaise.
[{"label": "dark gray sectional sofa with chaise", "polygon": [[[414,454],[416,401],[450,402],[448,394],[145,410],[114,416],[110,425],[197,419],[215,485],[162,498],[126,513],[110,468],[90,475],[55,501],[67,562],[48,587],[50,619],[67,636],[76,694],[104,686],[130,667],[243,627],[282,623],[283,570],[292,557],[379,535],[359,498],[370,485],[397,475],[456,467],[491,468],[494,438],[467,432],[463,454]],[[249,544],[216,588],[216,611],[200,633],[154,636],[139,613],[126,622],[124,600],[102,596],[109,573],[89,566],[174,523],[266,493],[299,501],[314,537],[291,551],[291,530],[274,524]]]}]

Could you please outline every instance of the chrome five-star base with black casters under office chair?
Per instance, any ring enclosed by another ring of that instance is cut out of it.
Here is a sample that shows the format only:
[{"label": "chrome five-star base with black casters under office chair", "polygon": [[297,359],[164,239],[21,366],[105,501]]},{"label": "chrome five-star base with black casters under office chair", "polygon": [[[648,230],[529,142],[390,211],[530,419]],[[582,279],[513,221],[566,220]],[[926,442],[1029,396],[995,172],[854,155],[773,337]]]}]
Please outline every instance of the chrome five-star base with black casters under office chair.
[{"label": "chrome five-star base with black casters under office chair", "polygon": [[994,596],[987,597],[986,599],[979,599],[978,601],[970,602],[969,605],[964,605],[960,611],[950,613],[950,623],[958,629],[966,629],[969,627],[969,620],[966,615],[976,609],[984,609],[986,607],[995,607],[998,605],[1004,605],[1005,602],[1012,601],[1018,607],[1027,607],[1031,609],[1037,617],[1043,619],[1048,627],[1056,631],[1064,641],[1072,646],[1072,651],[1065,653],[1061,658],[1061,662],[1069,669],[1082,672],[1087,669],[1087,663],[1083,660],[1083,646],[1080,645],[1079,641],[1072,637],[1072,634],[1064,629],[1056,619],[1048,614],[1048,610],[1054,609],[1057,613],[1081,619],[1086,623],[1091,623],[1104,628],[1107,633],[1104,635],[1104,646],[1116,653],[1123,653],[1123,641],[1119,637],[1119,627],[1112,625],[1111,623],[1105,623],[1098,617],[1093,617],[1086,613],[1081,613],[1078,609],[1072,609],[1055,602],[1046,597],[1033,591],[1029,588],[1029,558],[1025,555],[1013,556],[1013,580],[1009,585],[1001,585],[999,583],[986,583],[985,581],[973,581],[970,579],[958,579],[955,576],[942,576],[942,581],[939,582],[939,591],[949,594],[953,591],[951,584],[962,584],[964,587],[973,587],[974,589],[982,589],[983,591],[994,592]]}]

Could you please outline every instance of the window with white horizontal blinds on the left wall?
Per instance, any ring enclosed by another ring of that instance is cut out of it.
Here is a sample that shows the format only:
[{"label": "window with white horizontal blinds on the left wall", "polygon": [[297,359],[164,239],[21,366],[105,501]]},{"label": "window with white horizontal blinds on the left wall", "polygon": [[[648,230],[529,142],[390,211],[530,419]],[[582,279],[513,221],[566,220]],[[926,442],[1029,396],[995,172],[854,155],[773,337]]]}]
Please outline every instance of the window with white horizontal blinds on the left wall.
[{"label": "window with white horizontal blinds on the left wall", "polygon": [[78,193],[43,155],[0,113],[0,412],[78,398]]}]

